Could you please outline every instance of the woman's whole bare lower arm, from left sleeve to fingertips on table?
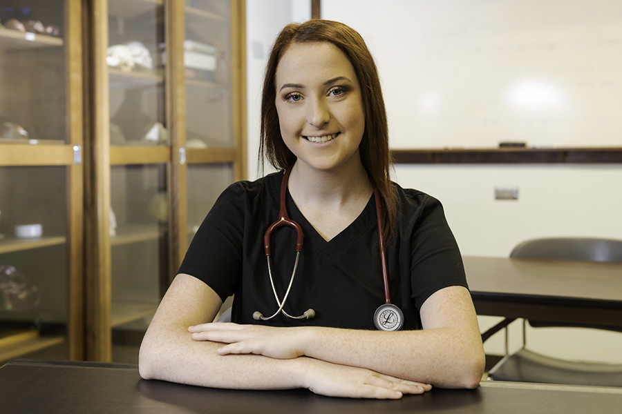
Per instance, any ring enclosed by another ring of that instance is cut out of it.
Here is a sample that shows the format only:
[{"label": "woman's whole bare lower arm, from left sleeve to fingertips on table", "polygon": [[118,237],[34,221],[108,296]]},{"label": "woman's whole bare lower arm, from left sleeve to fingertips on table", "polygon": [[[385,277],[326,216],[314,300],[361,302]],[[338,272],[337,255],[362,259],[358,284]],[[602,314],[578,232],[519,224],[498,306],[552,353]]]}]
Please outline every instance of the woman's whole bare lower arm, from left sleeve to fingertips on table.
[{"label": "woman's whole bare lower arm, from left sleeve to fingertips on table", "polygon": [[177,275],[140,346],[141,377],[215,388],[309,388],[343,397],[399,398],[402,393],[424,392],[414,382],[308,357],[218,355],[223,344],[195,341],[188,327],[214,319],[221,304],[207,284]]}]

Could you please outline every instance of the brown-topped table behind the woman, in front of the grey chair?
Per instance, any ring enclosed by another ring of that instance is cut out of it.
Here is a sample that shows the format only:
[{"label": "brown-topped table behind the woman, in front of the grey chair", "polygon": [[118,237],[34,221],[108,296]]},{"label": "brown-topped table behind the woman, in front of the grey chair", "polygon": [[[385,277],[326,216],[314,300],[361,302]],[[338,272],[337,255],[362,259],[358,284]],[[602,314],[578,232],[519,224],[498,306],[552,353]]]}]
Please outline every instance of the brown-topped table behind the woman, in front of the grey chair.
[{"label": "brown-topped table behind the woman, in front of the grey chair", "polygon": [[622,326],[622,263],[463,259],[478,315]]}]

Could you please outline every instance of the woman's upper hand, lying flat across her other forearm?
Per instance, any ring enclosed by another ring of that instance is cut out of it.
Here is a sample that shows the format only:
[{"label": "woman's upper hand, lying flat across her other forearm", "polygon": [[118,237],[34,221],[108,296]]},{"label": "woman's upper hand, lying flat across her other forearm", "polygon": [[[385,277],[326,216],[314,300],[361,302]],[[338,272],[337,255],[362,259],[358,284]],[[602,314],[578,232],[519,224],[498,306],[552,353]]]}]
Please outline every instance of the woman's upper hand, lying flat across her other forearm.
[{"label": "woman's upper hand, lying flat across her other forearm", "polygon": [[215,322],[190,326],[188,331],[196,341],[228,344],[218,348],[218,355],[257,354],[291,359],[304,355],[304,329]]}]

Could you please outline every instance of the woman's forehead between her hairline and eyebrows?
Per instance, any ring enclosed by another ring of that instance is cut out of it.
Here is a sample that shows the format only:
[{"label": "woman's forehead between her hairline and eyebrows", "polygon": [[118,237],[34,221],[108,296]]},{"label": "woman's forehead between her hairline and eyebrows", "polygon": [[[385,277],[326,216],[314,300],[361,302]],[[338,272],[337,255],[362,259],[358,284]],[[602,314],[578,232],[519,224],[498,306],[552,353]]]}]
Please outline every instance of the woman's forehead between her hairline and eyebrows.
[{"label": "woman's forehead between her hairline and eyebrows", "polygon": [[312,83],[335,77],[357,76],[348,57],[337,46],[328,42],[293,43],[276,66],[276,84]]}]

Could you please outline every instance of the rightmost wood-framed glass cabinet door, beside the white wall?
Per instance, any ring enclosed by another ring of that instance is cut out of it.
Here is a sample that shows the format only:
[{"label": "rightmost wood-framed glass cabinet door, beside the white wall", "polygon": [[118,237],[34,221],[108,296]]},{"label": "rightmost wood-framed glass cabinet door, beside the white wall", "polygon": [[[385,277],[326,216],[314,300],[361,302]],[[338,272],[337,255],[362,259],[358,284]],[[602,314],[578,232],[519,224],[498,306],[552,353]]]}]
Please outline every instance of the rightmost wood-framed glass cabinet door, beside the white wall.
[{"label": "rightmost wood-framed glass cabinet door, beside the white wall", "polygon": [[245,178],[241,117],[244,81],[240,46],[243,3],[186,0],[183,71],[188,242],[234,180]]}]

